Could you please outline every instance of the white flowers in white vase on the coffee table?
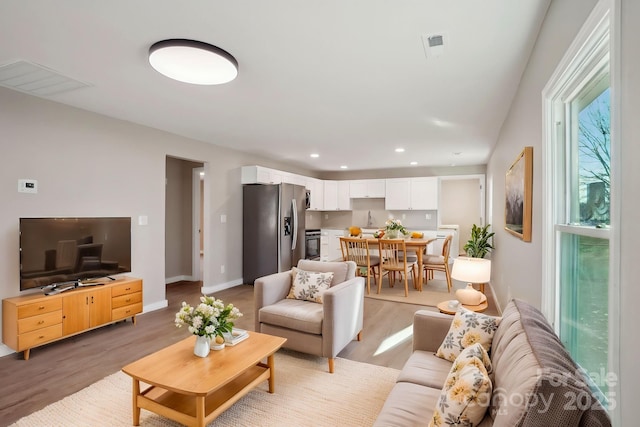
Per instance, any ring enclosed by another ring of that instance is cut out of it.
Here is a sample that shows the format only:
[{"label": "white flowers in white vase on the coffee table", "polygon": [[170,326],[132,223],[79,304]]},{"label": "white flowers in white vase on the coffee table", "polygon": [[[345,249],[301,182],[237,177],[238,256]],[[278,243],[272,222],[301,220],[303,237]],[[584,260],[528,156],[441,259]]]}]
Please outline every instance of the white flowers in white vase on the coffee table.
[{"label": "white flowers in white vase on the coffee table", "polygon": [[239,317],[242,317],[242,313],[233,304],[225,305],[222,300],[201,296],[200,304],[195,307],[182,302],[180,311],[176,313],[175,324],[178,328],[186,325],[189,332],[198,337],[194,353],[205,357],[209,354],[209,341],[213,337],[220,337],[224,342],[224,333],[232,332],[233,321]]}]

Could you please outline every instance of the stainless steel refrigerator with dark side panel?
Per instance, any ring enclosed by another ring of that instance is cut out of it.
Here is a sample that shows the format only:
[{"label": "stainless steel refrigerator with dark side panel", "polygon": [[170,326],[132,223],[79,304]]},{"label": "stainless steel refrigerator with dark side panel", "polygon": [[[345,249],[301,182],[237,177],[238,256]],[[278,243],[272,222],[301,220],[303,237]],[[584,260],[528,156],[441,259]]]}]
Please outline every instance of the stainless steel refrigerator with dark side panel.
[{"label": "stainless steel refrigerator with dark side panel", "polygon": [[242,278],[253,284],[304,258],[307,193],[293,184],[246,184],[242,190]]}]

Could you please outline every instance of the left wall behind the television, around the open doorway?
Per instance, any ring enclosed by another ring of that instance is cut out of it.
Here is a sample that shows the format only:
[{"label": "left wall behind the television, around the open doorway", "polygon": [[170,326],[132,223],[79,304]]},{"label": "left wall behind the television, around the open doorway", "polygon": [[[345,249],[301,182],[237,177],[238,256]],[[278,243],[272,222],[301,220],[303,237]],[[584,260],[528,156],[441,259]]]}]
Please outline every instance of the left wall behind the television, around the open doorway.
[{"label": "left wall behind the television, around the open doorway", "polygon": [[[242,278],[240,167],[262,164],[309,174],[4,88],[0,130],[0,299],[19,294],[20,217],[130,216],[131,275],[144,280],[145,308],[162,307],[166,156],[206,163],[211,248],[204,286],[235,283]],[[38,180],[38,194],[18,193],[20,178]],[[227,223],[220,223],[221,214]],[[148,216],[148,225],[138,225],[140,215]]]}]

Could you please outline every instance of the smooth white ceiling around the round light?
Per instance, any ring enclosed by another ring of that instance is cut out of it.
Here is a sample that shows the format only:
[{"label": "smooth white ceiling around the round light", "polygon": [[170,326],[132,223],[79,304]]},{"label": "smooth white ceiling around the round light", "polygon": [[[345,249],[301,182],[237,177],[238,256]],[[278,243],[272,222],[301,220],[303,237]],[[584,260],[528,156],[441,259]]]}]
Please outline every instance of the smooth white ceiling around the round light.
[{"label": "smooth white ceiling around the round light", "polygon": [[[2,0],[0,65],[26,60],[90,85],[52,101],[305,169],[478,165],[549,2]],[[434,34],[440,57],[425,54]],[[169,38],[225,49],[238,78],[158,74],[147,53]]]}]

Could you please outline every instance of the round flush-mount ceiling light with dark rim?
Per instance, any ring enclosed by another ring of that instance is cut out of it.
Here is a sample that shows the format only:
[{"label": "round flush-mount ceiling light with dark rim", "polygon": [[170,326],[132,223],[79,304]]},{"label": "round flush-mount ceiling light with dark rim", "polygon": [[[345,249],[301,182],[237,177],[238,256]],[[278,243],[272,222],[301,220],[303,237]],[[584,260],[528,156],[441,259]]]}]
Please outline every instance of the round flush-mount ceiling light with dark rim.
[{"label": "round flush-mount ceiling light with dark rim", "polygon": [[196,85],[228,83],[238,75],[238,61],[229,52],[196,40],[154,43],[149,48],[149,63],[160,74]]}]

